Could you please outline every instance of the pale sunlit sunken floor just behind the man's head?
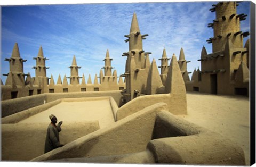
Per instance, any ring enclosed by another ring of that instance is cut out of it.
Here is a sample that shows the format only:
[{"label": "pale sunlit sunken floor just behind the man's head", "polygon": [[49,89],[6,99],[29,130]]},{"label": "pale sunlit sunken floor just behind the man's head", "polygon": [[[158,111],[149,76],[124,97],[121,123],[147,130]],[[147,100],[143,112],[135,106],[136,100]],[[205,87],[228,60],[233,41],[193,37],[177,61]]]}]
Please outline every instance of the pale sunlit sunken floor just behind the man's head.
[{"label": "pale sunlit sunken floor just behind the man's head", "polygon": [[51,122],[49,119],[50,114],[54,114],[58,122],[63,121],[63,124],[98,120],[100,128],[104,128],[115,122],[109,99],[106,99],[100,101],[61,102],[19,123],[49,124]]}]

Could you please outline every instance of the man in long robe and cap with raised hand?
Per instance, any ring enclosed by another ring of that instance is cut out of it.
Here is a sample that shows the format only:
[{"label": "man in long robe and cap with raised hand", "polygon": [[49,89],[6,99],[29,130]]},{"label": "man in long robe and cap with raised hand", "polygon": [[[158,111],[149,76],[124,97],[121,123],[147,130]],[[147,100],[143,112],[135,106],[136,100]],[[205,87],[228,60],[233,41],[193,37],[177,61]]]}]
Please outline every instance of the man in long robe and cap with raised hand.
[{"label": "man in long robe and cap with raised hand", "polygon": [[61,131],[61,124],[63,123],[60,121],[57,126],[57,118],[55,115],[51,114],[49,116],[51,123],[49,124],[47,128],[47,134],[45,139],[45,145],[44,145],[44,153],[50,152],[55,148],[64,146],[63,144],[60,144],[59,139],[59,132]]}]

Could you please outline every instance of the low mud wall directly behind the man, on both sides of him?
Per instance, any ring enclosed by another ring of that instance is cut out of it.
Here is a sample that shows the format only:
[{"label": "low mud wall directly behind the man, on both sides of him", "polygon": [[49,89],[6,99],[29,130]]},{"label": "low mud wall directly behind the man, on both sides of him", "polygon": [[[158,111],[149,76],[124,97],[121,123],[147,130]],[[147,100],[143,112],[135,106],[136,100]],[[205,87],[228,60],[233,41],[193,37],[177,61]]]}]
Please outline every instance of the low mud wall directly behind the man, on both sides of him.
[{"label": "low mud wall directly behind the man, on both sides of him", "polygon": [[[45,123],[2,124],[2,161],[29,161],[44,154],[47,126]],[[61,144],[100,128],[98,121],[63,123],[61,127]]]}]

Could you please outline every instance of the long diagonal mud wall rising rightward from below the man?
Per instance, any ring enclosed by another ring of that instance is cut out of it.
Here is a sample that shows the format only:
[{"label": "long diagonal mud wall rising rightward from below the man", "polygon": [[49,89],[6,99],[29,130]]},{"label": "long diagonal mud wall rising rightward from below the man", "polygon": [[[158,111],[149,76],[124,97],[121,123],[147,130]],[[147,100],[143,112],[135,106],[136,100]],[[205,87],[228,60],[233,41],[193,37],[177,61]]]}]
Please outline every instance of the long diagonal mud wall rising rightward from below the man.
[{"label": "long diagonal mud wall rising rightward from below the man", "polygon": [[166,107],[164,103],[149,106],[138,114],[116,122],[113,126],[79,138],[64,147],[39,156],[33,161],[144,151],[152,137],[156,113],[166,110]]}]

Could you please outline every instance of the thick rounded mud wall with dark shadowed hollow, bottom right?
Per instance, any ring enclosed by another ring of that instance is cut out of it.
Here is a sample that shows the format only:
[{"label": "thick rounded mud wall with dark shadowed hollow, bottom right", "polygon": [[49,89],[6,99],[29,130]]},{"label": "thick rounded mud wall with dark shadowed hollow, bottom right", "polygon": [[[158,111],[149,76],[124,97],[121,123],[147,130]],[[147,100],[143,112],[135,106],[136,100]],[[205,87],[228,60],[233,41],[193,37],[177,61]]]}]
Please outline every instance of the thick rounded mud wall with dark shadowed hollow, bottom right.
[{"label": "thick rounded mud wall with dark shadowed hollow, bottom right", "polygon": [[243,149],[233,141],[167,111],[157,114],[154,131],[147,148],[158,163],[245,165]]}]

